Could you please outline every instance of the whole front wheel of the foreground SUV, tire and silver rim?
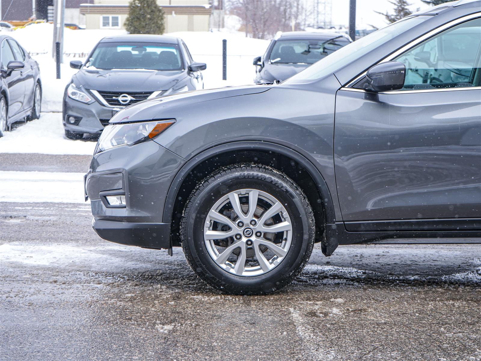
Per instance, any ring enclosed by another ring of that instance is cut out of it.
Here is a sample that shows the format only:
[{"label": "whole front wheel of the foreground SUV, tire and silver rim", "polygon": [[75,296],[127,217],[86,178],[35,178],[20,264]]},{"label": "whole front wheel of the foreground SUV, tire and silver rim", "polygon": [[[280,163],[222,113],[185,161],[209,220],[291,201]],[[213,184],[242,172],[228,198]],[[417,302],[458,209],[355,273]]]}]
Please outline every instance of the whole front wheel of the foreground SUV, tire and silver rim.
[{"label": "whole front wheel of the foreground SUV, tire and silver rim", "polygon": [[314,229],[306,196],[285,174],[237,165],[197,186],[181,237],[190,266],[205,282],[231,294],[266,294],[302,271]]}]

